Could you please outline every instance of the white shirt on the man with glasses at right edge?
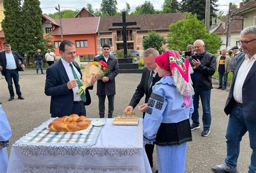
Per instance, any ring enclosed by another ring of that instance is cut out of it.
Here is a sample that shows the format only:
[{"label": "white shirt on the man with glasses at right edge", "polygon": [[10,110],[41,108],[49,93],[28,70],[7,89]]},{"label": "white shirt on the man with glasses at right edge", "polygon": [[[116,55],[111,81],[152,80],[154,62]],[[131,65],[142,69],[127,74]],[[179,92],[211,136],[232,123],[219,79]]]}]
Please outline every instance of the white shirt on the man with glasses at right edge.
[{"label": "white shirt on the man with glasses at right edge", "polygon": [[237,72],[237,77],[235,78],[233,97],[238,103],[242,103],[242,85],[244,85],[245,78],[248,75],[248,72],[252,68],[253,63],[256,60],[256,54],[252,56],[251,60],[248,55],[245,55],[245,59],[242,62],[240,68]]}]

